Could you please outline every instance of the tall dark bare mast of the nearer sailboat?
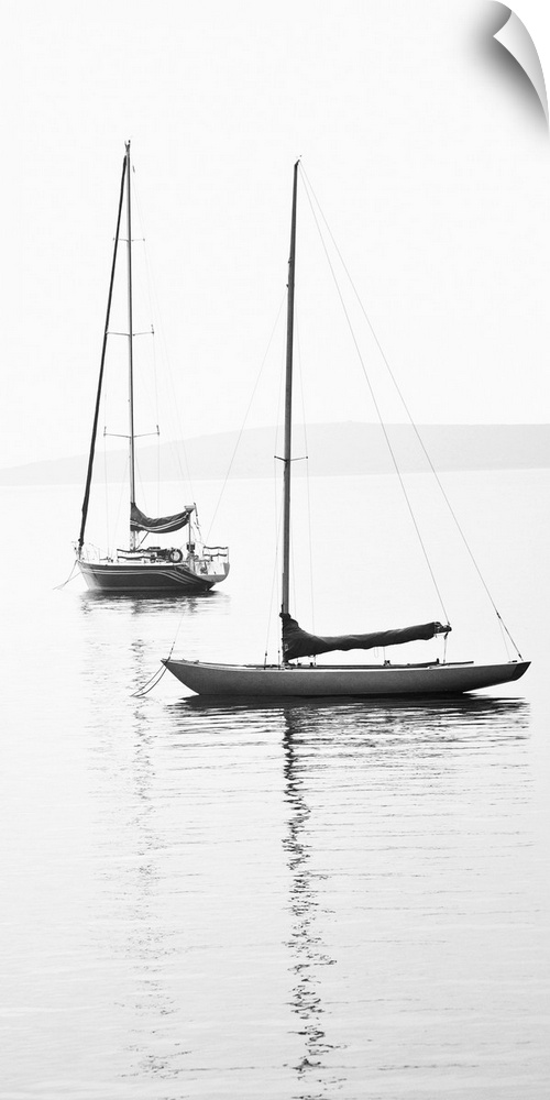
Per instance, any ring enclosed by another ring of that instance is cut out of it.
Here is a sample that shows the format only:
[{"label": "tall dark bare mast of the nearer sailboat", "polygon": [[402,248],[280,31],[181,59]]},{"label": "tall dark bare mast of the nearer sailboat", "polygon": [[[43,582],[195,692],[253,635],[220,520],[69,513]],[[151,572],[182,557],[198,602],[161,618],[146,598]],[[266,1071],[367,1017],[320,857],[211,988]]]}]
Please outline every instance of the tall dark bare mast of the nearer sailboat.
[{"label": "tall dark bare mast of the nearer sailboat", "polygon": [[296,266],[296,202],[298,165],[294,166],[293,216],[290,223],[290,255],[288,258],[288,305],[286,321],[286,386],[285,386],[285,450],[283,481],[283,585],[282,615],[288,614],[290,587],[290,465],[293,450],[293,349],[294,349],[294,280]]}]

